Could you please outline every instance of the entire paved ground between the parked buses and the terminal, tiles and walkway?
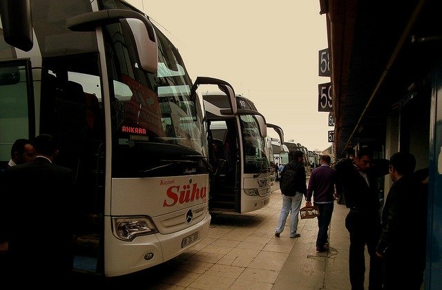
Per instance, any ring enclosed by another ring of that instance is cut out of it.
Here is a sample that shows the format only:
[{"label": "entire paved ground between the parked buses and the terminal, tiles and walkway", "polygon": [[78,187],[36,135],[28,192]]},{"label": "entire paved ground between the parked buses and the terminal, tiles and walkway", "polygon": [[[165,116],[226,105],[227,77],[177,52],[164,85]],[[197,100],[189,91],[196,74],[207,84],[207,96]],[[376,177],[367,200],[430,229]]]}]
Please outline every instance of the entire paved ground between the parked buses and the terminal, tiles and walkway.
[{"label": "entire paved ground between the parked buses and the terminal, tiles and walkway", "polygon": [[[316,218],[300,220],[300,238],[289,238],[289,216],[285,231],[274,236],[281,204],[277,189],[264,209],[214,213],[209,237],[200,244],[157,267],[99,284],[108,289],[128,283],[139,289],[351,289],[345,205],[334,206],[329,252],[316,253]],[[367,289],[367,273],[365,281]]]}]

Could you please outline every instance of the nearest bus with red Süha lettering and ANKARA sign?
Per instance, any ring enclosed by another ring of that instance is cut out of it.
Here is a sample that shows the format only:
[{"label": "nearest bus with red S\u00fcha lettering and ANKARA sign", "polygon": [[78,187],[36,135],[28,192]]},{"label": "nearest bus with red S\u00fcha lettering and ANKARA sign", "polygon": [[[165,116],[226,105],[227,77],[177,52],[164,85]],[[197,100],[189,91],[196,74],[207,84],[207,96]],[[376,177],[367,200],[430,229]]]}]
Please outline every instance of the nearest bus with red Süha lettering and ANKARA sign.
[{"label": "nearest bus with red S\u00fcha lettering and ANKARA sign", "polygon": [[59,140],[81,213],[75,270],[121,276],[204,239],[204,110],[173,43],[120,0],[2,3],[0,161],[17,138]]}]

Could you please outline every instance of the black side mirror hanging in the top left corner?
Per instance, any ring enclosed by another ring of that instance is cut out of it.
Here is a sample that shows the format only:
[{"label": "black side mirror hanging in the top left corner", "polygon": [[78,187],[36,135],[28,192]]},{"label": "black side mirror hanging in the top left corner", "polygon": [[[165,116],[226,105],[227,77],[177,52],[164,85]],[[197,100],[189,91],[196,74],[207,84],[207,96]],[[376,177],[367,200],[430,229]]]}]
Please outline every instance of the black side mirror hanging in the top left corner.
[{"label": "black side mirror hanging in the top left corner", "polygon": [[6,43],[23,51],[34,45],[30,0],[0,0],[0,17]]}]

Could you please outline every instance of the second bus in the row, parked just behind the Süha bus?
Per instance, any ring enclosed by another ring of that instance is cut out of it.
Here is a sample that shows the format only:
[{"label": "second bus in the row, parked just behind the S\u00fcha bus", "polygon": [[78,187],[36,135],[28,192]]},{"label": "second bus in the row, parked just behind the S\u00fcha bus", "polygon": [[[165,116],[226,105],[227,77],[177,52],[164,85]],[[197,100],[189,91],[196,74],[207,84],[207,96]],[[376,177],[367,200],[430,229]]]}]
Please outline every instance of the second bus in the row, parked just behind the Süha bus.
[{"label": "second bus in the row, parked just behind the S\u00fcha bus", "polygon": [[[231,88],[231,87],[230,87]],[[271,169],[267,126],[253,102],[229,92],[203,94],[211,132],[210,211],[247,213],[269,203]]]}]

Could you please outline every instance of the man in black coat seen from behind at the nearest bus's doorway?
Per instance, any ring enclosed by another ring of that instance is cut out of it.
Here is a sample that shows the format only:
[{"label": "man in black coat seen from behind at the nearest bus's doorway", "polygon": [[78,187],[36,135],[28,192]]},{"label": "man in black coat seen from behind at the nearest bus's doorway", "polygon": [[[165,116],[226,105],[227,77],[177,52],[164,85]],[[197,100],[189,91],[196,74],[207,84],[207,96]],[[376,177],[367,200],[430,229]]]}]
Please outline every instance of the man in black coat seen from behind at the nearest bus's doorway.
[{"label": "man in black coat seen from behind at the nearest bus's doorway", "polygon": [[52,163],[58,153],[52,135],[37,136],[34,147],[35,160],[5,172],[3,225],[12,273],[23,277],[15,283],[55,286],[73,269],[73,171]]}]

